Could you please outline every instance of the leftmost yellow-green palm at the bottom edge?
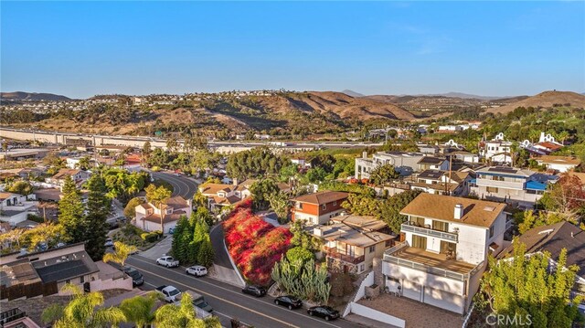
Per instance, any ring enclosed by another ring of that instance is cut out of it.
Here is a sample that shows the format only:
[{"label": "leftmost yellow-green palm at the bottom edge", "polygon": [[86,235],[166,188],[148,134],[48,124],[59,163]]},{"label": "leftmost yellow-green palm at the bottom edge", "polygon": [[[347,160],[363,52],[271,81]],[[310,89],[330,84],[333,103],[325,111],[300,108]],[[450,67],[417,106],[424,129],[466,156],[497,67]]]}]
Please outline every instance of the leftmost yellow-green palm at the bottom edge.
[{"label": "leftmost yellow-green palm at the bottom edge", "polygon": [[52,304],[41,315],[43,323],[53,323],[55,328],[117,326],[126,320],[122,310],[114,307],[97,309],[103,304],[99,291],[83,293],[80,287],[66,284],[61,291],[69,291],[73,299],[65,305]]}]

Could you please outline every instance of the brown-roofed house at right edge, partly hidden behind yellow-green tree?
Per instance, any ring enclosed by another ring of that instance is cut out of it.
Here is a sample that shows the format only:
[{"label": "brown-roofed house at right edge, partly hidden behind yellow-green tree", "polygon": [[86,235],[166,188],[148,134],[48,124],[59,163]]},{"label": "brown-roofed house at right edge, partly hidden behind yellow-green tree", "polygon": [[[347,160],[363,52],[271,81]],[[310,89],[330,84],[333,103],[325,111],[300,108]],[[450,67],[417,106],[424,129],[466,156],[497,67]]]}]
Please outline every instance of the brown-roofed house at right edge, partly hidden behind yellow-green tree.
[{"label": "brown-roofed house at right edge, partly hidden behind yellow-green tree", "polygon": [[[522,234],[518,241],[526,245],[527,254],[548,251],[553,261],[558,260],[561,249],[567,249],[567,265],[577,265],[576,283],[570,291],[571,299],[577,295],[583,297],[580,312],[585,312],[585,231],[567,221],[554,225],[534,227]],[[498,255],[498,259],[509,256],[514,247],[510,245]],[[554,263],[556,264],[556,262]]]}]

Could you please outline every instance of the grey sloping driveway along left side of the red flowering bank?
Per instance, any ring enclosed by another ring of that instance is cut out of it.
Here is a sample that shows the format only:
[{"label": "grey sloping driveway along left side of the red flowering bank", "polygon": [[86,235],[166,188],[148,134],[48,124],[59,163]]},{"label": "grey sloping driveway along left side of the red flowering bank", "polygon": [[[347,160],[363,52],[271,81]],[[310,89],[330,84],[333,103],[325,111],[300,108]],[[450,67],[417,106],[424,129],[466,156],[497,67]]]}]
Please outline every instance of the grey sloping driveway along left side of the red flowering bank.
[{"label": "grey sloping driveway along left side of the red flowering bank", "polygon": [[229,253],[226,249],[226,244],[223,237],[223,227],[218,224],[212,227],[209,231],[209,238],[211,238],[211,245],[215,250],[215,259],[213,260],[213,268],[216,270],[217,279],[229,284],[243,287],[244,283],[239,278],[239,272],[231,264]]}]

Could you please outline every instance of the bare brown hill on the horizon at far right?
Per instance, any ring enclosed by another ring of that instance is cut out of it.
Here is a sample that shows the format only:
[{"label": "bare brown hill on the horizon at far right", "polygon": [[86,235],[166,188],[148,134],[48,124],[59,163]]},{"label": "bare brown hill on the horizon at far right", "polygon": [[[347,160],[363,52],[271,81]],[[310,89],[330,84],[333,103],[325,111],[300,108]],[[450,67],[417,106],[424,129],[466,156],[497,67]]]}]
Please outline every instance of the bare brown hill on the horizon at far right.
[{"label": "bare brown hill on the horizon at far right", "polygon": [[585,96],[571,91],[544,91],[538,93],[536,96],[528,97],[521,101],[516,101],[497,108],[490,108],[485,112],[507,113],[514,111],[518,107],[550,108],[555,104],[570,104],[571,107],[585,108]]}]

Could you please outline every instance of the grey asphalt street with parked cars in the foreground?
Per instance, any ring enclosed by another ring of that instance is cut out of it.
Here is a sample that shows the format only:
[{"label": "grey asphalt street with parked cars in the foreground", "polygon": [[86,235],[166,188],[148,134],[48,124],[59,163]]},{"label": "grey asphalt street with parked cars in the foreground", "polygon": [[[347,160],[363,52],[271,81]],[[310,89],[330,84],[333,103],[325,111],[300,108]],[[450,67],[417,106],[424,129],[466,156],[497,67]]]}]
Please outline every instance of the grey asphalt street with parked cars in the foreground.
[{"label": "grey asphalt street with parked cars in the foreground", "polygon": [[142,289],[149,291],[160,285],[173,285],[180,291],[195,291],[202,294],[213,307],[214,314],[218,315],[221,323],[229,327],[229,320],[237,318],[242,323],[254,327],[320,327],[346,328],[363,327],[343,319],[325,322],[324,319],[311,317],[303,309],[288,310],[274,304],[269,296],[256,298],[243,294],[237,287],[207,277],[195,278],[185,274],[185,268],[167,269],[157,266],[152,259],[145,259],[140,255],[133,255],[126,263],[144,275]]}]

